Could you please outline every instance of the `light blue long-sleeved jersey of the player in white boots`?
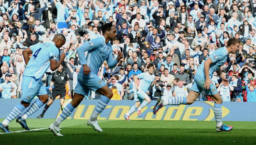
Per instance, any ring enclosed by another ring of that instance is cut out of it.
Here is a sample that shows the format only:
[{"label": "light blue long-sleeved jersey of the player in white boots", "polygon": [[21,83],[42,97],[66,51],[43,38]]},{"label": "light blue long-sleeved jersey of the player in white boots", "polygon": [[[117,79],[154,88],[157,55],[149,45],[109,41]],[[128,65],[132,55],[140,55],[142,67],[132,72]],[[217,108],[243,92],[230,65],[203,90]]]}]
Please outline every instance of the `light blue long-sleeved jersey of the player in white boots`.
[{"label": "light blue long-sleeved jersey of the player in white boots", "polygon": [[[82,44],[78,49],[78,57],[81,69],[78,75],[83,76],[83,65],[87,64],[91,68],[90,74],[97,74],[102,63],[107,60],[108,66],[113,68],[117,61],[113,59],[113,50],[110,43],[105,43],[105,37],[98,37]],[[88,51],[85,58],[85,52]]]}]

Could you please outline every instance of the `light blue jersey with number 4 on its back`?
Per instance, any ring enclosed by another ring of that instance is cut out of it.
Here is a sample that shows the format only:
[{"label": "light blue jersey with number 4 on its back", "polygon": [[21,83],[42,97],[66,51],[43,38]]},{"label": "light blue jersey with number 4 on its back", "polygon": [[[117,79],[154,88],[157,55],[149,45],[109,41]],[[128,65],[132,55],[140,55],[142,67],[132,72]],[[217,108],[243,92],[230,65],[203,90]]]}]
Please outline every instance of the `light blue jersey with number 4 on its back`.
[{"label": "light blue jersey with number 4 on its back", "polygon": [[30,46],[33,52],[23,75],[41,79],[50,66],[50,59],[57,60],[59,49],[54,42],[37,43]]}]

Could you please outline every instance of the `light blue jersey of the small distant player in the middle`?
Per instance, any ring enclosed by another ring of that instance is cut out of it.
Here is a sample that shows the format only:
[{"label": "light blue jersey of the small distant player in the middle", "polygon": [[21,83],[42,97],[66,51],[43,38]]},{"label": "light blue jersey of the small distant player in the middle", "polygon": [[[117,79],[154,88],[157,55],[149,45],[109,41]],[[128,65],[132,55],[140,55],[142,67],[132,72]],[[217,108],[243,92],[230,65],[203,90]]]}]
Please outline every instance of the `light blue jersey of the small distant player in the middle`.
[{"label": "light blue jersey of the small distant player in the middle", "polygon": [[138,89],[143,90],[144,92],[148,91],[148,88],[155,79],[155,75],[150,75],[148,72],[141,73],[137,75],[137,77],[140,79],[140,85]]}]

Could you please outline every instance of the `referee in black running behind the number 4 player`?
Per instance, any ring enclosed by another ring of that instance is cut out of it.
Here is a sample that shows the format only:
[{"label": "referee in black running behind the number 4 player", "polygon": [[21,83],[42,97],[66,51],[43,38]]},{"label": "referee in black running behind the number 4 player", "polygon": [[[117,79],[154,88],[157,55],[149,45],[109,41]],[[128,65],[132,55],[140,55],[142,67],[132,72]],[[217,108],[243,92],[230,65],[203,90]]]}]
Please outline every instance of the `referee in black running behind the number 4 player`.
[{"label": "referee in black running behind the number 4 player", "polygon": [[[43,115],[45,114],[45,112],[47,111],[47,109],[51,106],[51,104],[53,103],[53,101],[55,100],[55,98],[60,95],[60,108],[62,109],[62,106],[64,104],[64,100],[65,100],[65,96],[66,96],[66,85],[67,85],[67,89],[68,89],[68,95],[71,96],[70,93],[70,86],[69,86],[69,81],[68,81],[68,74],[66,71],[62,70],[63,66],[60,65],[57,68],[57,71],[55,71],[52,75],[52,81],[50,84],[50,88],[49,90],[53,90],[51,97],[49,99],[49,101],[47,102],[47,104],[44,106],[43,112],[42,114],[40,114],[39,116],[37,116],[36,118],[40,119],[43,118]],[[54,85],[54,88],[52,89],[52,86]]]}]

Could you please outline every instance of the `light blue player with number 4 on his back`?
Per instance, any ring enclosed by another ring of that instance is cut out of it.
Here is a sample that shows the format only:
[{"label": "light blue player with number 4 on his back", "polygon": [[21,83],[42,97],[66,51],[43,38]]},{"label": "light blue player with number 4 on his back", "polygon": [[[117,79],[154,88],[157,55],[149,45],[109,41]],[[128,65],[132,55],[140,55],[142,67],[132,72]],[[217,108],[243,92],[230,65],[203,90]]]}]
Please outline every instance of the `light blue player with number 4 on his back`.
[{"label": "light blue player with number 4 on his back", "polygon": [[[52,42],[37,43],[23,51],[24,60],[27,66],[23,72],[21,83],[23,90],[21,102],[14,107],[12,112],[0,124],[0,128],[4,132],[10,133],[8,124],[18,117],[18,115],[30,105],[35,95],[37,95],[39,100],[32,103],[29,109],[16,120],[16,122],[23,128],[30,130],[26,123],[27,117],[35,113],[43,106],[43,104],[48,102],[48,95],[41,79],[49,67],[52,71],[55,71],[65,59],[66,55],[65,53],[62,53],[60,55],[60,60],[57,62],[59,48],[62,47],[65,42],[65,36],[57,34]],[[29,58],[29,54],[32,54],[31,58]]]}]

